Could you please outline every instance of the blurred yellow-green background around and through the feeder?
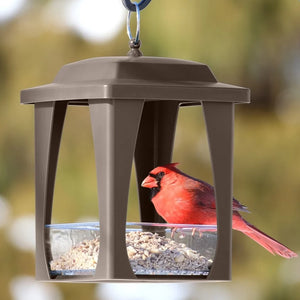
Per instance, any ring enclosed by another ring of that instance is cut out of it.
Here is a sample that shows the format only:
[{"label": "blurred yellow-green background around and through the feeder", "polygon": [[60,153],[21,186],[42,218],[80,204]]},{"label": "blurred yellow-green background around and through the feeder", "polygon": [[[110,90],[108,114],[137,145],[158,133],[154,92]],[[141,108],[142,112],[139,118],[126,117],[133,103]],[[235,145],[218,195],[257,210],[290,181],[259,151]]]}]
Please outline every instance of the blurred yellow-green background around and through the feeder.
[{"label": "blurred yellow-green background around and through the feeder", "polygon": [[[34,120],[20,90],[73,61],[126,55],[126,16],[121,0],[0,0],[1,299],[299,299],[300,259],[272,256],[238,232],[230,283],[34,281]],[[144,55],[202,62],[219,81],[251,89],[252,103],[236,106],[234,195],[248,221],[300,254],[300,2],[153,0],[141,40]],[[173,160],[212,183],[201,107],[180,109]],[[88,108],[72,107],[53,222],[97,220],[96,200]],[[128,220],[139,220],[134,171]]]}]

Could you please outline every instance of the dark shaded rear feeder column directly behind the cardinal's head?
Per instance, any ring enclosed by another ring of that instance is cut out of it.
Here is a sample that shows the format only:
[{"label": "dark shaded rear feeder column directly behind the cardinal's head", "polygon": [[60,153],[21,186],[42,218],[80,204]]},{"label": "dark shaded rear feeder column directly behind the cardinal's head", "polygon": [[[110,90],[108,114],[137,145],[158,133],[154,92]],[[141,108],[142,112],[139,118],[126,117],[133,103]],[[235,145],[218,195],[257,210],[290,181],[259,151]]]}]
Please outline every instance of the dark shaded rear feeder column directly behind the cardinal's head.
[{"label": "dark shaded rear feeder column directly behind the cardinal's head", "polygon": [[146,102],[141,118],[136,148],[135,168],[142,222],[164,222],[151,203],[151,191],[141,187],[150,170],[172,160],[179,102]]}]

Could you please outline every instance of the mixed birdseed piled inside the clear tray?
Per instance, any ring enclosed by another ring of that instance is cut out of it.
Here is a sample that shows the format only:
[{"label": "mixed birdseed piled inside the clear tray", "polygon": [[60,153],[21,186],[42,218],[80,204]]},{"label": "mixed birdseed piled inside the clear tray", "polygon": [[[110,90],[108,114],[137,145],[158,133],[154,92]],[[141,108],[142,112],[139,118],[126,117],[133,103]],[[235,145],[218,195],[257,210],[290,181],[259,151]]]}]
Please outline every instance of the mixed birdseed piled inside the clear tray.
[{"label": "mixed birdseed piled inside the clear tray", "polygon": [[[97,266],[99,237],[84,240],[50,262],[52,271],[94,270]],[[126,233],[132,270],[137,275],[208,275],[212,260],[196,250],[157,233]]]}]

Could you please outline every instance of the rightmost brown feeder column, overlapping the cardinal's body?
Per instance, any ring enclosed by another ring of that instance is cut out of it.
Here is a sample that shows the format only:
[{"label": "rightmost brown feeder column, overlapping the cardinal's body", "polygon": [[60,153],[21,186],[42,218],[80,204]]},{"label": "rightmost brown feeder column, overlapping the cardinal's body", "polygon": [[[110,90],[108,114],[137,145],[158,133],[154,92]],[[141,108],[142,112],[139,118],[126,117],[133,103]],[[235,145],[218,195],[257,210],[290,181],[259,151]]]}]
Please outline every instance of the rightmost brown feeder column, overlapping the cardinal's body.
[{"label": "rightmost brown feeder column, overlapping the cardinal's body", "polygon": [[217,207],[218,242],[208,279],[231,279],[234,104],[203,102]]}]

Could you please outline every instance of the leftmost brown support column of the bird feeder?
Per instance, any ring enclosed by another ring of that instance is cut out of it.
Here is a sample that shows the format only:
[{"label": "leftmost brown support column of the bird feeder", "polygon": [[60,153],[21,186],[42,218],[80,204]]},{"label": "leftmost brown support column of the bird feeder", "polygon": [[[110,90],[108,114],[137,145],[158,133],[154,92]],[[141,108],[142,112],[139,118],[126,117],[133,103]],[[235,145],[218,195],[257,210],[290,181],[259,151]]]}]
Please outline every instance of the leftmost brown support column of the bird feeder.
[{"label": "leftmost brown support column of the bird feeder", "polygon": [[53,191],[61,134],[67,102],[35,104],[35,232],[36,277],[49,280],[50,249],[46,247],[48,233],[45,225],[51,224]]}]

